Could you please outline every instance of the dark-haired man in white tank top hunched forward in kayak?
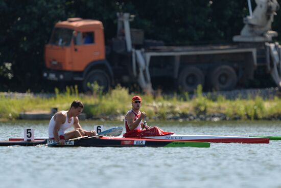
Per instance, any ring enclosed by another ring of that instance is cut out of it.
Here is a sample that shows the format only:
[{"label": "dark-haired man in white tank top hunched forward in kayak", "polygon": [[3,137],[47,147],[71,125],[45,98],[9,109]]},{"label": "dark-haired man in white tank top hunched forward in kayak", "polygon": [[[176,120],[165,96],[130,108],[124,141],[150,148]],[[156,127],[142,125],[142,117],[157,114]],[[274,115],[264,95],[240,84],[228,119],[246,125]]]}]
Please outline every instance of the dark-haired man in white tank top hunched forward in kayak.
[{"label": "dark-haired man in white tank top hunched forward in kayak", "polygon": [[[95,131],[85,131],[79,124],[78,115],[83,111],[83,103],[75,100],[68,111],[57,112],[49,123],[49,138],[55,139],[59,144],[65,144],[65,140],[81,136],[95,136]],[[74,127],[74,130],[64,133],[66,129]]]}]

